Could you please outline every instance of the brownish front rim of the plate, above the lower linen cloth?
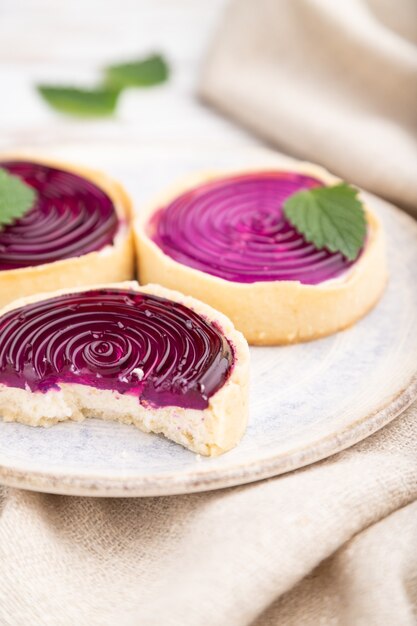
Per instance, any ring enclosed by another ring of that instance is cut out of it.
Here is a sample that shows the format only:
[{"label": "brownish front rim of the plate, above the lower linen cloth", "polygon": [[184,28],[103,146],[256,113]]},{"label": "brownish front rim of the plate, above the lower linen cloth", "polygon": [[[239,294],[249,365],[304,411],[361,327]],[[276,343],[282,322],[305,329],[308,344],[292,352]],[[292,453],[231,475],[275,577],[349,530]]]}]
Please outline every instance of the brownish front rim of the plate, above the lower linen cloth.
[{"label": "brownish front rim of the plate, above the lower linen cloth", "polygon": [[272,455],[232,468],[194,470],[185,475],[160,472],[152,476],[93,476],[22,470],[0,465],[0,481],[8,487],[42,493],[95,497],[154,497],[225,489],[301,469],[346,450],[399,417],[417,398],[417,374],[382,406],[358,418],[344,430],[321,437],[292,452]]}]

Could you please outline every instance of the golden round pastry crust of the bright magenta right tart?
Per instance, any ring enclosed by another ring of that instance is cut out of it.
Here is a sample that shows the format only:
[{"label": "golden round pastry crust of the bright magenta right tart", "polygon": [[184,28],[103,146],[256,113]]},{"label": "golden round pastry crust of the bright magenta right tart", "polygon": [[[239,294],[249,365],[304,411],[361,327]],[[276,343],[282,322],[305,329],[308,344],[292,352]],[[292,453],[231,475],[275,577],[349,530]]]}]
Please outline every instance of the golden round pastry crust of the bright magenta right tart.
[{"label": "golden round pastry crust of the bright magenta right tart", "polygon": [[[299,281],[238,283],[183,265],[165,254],[147,235],[152,214],[176,196],[210,180],[256,171],[285,170],[285,165],[200,173],[156,198],[134,223],[138,275],[142,283],[156,282],[194,296],[227,315],[250,344],[280,345],[308,341],[354,324],[377,303],[387,268],[382,226],[365,205],[369,226],[365,249],[342,276],[318,285]],[[340,179],[311,163],[291,161],[289,171],[314,176],[326,185]]]}]

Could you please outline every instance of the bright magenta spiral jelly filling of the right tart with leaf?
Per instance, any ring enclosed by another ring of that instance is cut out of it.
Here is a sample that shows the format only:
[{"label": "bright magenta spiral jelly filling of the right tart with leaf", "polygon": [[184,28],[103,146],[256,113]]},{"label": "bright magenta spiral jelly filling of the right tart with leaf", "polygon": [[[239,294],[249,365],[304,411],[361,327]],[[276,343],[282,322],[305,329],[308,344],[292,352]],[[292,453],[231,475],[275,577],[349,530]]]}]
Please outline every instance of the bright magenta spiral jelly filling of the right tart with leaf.
[{"label": "bright magenta spiral jelly filling of the right tart with leaf", "polygon": [[336,278],[352,262],[306,241],[285,218],[283,203],[322,184],[295,172],[221,178],[159,209],[147,232],[175,261],[225,280],[314,285]]}]

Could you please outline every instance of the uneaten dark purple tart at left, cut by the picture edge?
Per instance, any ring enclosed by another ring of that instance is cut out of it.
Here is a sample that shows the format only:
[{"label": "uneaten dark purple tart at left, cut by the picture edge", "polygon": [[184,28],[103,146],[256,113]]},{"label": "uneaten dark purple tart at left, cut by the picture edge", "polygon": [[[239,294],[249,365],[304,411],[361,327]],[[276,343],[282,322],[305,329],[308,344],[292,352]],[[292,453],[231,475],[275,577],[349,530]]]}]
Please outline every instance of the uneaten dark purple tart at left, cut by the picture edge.
[{"label": "uneaten dark purple tart at left, cut by the picture edge", "polygon": [[32,209],[0,229],[0,306],[41,291],[133,277],[130,200],[104,174],[3,156],[36,189]]}]

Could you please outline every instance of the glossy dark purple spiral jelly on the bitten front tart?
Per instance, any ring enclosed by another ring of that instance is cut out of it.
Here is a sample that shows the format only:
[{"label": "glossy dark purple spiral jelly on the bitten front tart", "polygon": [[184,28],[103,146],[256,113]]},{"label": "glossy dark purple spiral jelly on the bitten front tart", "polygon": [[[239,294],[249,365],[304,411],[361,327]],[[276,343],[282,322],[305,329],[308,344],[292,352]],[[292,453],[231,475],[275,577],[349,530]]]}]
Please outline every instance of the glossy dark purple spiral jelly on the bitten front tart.
[{"label": "glossy dark purple spiral jelly on the bitten front tart", "polygon": [[78,383],[144,406],[204,409],[233,350],[182,304],[126,289],[66,294],[0,317],[0,383],[31,391]]}]

